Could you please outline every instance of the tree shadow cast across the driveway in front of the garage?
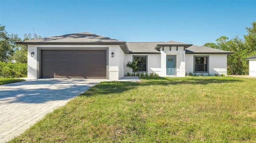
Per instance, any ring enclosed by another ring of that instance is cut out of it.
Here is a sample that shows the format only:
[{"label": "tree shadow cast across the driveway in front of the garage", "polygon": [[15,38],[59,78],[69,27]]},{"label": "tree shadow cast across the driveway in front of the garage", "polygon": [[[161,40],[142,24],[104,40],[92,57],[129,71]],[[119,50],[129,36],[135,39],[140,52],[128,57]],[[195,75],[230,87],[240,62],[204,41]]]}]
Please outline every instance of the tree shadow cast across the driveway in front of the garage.
[{"label": "tree shadow cast across the driveway in front of the garage", "polygon": [[88,90],[103,79],[39,79],[0,86],[0,102],[44,103],[67,100]]}]

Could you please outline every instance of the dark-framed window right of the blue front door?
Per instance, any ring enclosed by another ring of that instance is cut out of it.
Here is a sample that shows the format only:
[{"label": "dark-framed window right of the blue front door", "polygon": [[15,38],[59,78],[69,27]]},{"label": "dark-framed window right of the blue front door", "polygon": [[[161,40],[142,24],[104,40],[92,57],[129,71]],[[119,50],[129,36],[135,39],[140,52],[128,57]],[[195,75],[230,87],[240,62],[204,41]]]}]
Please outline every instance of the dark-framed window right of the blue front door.
[{"label": "dark-framed window right of the blue front door", "polygon": [[209,72],[209,56],[194,56],[194,72]]}]

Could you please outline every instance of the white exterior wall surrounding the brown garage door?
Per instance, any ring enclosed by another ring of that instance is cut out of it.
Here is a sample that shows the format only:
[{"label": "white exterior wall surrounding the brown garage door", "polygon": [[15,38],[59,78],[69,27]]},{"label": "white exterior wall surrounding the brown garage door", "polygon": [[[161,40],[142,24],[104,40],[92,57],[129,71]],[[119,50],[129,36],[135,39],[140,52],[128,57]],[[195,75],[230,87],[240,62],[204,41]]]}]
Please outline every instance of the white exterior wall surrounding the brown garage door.
[{"label": "white exterior wall surrounding the brown garage door", "polygon": [[117,80],[124,75],[124,52],[119,45],[28,45],[28,79],[40,78],[41,50],[106,50],[107,79]]}]

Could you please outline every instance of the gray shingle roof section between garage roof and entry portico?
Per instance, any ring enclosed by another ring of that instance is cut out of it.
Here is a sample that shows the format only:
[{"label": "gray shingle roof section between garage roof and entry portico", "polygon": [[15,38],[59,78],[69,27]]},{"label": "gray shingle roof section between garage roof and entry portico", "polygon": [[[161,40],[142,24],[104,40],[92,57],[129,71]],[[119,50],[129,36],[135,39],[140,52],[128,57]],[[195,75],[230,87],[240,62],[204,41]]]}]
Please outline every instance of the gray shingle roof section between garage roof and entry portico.
[{"label": "gray shingle roof section between garage roof and entry portico", "polygon": [[126,42],[130,53],[160,53],[154,47],[164,42]]}]

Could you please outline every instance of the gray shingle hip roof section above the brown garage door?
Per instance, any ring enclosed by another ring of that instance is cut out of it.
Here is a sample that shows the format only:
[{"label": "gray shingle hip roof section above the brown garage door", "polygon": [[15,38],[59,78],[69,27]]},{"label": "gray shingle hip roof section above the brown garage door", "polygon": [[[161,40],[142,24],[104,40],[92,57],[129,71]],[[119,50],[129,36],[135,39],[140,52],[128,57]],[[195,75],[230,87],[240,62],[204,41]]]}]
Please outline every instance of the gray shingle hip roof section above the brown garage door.
[{"label": "gray shingle hip roof section above the brown garage door", "polygon": [[96,43],[96,42],[123,42],[89,32],[73,33],[41,39],[32,39],[18,43]]}]

